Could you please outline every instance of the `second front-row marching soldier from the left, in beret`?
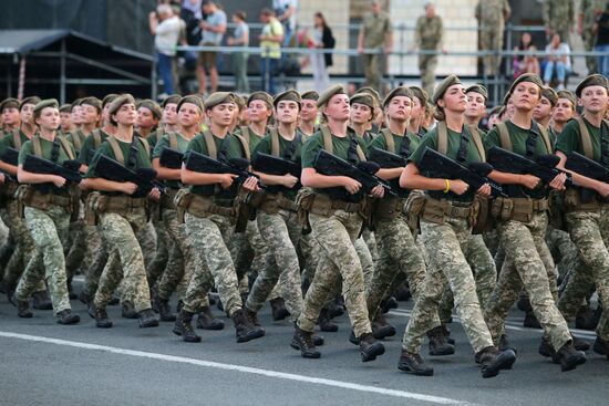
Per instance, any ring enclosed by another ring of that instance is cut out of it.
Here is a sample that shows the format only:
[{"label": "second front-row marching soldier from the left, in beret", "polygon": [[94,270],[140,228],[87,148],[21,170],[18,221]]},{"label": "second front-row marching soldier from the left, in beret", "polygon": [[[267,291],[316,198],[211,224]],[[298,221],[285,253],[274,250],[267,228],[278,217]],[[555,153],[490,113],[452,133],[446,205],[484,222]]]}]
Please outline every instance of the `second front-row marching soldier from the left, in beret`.
[{"label": "second front-row marching soldier from the left, in beret", "polygon": [[141,327],[158,326],[158,319],[151,309],[151,296],[142,248],[136,233],[146,227],[148,198],[158,200],[161,191],[141,188],[131,181],[105,179],[97,171],[101,156],[106,156],[132,170],[151,169],[149,147],[145,139],[134,135],[136,119],[135,100],[131,94],[116,97],[110,108],[110,121],[116,124],[116,133],[102,144],[85,175],[84,186],[99,191],[89,195],[87,205],[99,217],[99,223],[107,242],[109,258],[100,278],[95,298],[89,313],[100,329],[112,327],[106,305],[121,279],[124,293],[133,301]]}]

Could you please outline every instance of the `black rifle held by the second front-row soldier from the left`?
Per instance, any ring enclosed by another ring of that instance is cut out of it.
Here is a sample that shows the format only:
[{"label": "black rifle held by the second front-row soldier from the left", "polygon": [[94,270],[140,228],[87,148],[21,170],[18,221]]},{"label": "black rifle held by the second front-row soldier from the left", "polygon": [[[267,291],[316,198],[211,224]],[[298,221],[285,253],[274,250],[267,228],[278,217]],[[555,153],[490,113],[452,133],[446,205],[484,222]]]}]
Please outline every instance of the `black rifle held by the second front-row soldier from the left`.
[{"label": "black rifle held by the second front-row soldier from the left", "polygon": [[165,186],[155,180],[156,170],[152,168],[130,169],[118,162],[100,154],[95,171],[100,177],[107,180],[131,181],[137,185],[137,190],[133,194],[133,197],[147,196],[153,188],[165,192]]}]

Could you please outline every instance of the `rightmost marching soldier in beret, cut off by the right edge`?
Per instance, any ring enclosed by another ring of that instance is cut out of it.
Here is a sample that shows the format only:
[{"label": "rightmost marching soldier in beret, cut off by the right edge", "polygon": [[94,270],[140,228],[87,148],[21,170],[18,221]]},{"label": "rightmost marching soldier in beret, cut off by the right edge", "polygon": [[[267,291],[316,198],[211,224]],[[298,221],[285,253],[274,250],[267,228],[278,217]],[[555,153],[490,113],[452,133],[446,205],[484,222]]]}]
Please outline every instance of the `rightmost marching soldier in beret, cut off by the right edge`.
[{"label": "rightmost marching soldier in beret, cut off by the right edge", "polygon": [[[571,119],[556,143],[559,167],[577,152],[606,168],[609,166],[609,126],[605,113],[609,104],[607,77],[592,74],[576,90],[584,117]],[[602,303],[602,316],[597,326],[595,352],[609,358],[609,216],[607,197],[609,184],[570,170],[574,187],[565,195],[565,222],[579,251],[579,261],[572,271],[558,309],[570,322],[589,293],[592,284]],[[591,196],[590,196],[591,195]]]}]

